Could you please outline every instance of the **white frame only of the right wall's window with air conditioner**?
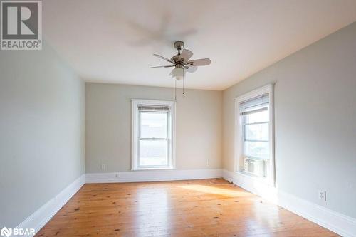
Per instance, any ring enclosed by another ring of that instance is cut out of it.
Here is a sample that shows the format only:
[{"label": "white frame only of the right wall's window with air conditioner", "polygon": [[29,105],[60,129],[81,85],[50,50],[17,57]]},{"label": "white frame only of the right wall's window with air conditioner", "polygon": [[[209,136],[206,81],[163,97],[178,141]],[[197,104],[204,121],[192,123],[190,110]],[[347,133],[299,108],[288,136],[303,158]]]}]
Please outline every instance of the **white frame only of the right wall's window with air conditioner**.
[{"label": "white frame only of the right wall's window with air conditioner", "polygon": [[[248,172],[244,172],[244,140],[243,140],[243,128],[240,116],[240,104],[246,100],[251,100],[261,95],[268,93],[269,97],[269,149],[270,149],[270,167],[269,174],[270,177],[255,177]],[[275,169],[275,155],[274,155],[274,101],[273,101],[273,84],[265,85],[256,90],[252,90],[249,93],[241,95],[235,98],[235,159],[234,159],[234,170],[239,174],[252,177],[259,181],[266,182],[272,186],[276,185],[276,169]]]}]

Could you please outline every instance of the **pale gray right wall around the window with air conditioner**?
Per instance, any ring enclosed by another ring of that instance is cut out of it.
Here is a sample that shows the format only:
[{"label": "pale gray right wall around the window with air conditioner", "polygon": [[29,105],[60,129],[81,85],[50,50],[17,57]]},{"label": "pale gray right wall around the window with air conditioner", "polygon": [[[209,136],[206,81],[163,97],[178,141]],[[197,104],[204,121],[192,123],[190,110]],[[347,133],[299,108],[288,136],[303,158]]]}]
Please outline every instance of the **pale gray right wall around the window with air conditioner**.
[{"label": "pale gray right wall around the window with air conditioner", "polygon": [[234,98],[267,83],[276,83],[278,189],[356,218],[356,23],[224,91],[225,169],[234,169]]}]

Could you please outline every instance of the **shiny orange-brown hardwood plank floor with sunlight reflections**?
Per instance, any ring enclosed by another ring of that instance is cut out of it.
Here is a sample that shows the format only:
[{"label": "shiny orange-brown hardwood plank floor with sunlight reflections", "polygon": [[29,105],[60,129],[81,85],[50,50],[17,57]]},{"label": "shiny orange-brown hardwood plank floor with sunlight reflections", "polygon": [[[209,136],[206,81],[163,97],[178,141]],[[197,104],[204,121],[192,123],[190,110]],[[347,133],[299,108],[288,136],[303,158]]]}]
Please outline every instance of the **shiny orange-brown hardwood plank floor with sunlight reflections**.
[{"label": "shiny orange-brown hardwood plank floor with sunlight reflections", "polygon": [[228,184],[85,184],[36,236],[337,236]]}]

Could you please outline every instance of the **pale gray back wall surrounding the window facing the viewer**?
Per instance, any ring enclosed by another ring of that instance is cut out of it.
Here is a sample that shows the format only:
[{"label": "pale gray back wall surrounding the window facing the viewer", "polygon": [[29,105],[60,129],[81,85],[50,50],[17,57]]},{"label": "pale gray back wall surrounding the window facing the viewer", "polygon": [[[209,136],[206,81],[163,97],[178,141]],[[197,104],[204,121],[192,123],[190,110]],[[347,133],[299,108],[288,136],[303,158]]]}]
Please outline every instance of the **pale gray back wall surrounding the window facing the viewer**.
[{"label": "pale gray back wall surrounding the window facing the viewer", "polygon": [[[173,100],[174,89],[86,83],[85,90],[86,172],[129,171],[131,99]],[[222,92],[187,90],[185,98],[180,90],[178,94],[176,168],[221,168]]]}]

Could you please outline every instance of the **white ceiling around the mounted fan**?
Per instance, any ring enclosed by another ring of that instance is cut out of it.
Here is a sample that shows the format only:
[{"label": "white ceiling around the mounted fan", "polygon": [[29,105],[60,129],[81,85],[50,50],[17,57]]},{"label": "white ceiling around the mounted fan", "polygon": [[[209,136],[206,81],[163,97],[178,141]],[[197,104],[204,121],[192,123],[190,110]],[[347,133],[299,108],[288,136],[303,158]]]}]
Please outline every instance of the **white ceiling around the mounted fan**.
[{"label": "white ceiling around the mounted fan", "polygon": [[223,90],[356,21],[355,0],[43,1],[45,40],[87,81],[174,86],[155,58],[185,41],[211,65],[188,88]]}]

